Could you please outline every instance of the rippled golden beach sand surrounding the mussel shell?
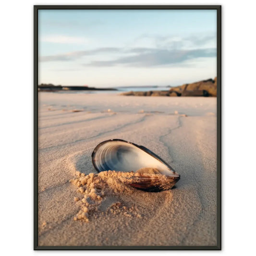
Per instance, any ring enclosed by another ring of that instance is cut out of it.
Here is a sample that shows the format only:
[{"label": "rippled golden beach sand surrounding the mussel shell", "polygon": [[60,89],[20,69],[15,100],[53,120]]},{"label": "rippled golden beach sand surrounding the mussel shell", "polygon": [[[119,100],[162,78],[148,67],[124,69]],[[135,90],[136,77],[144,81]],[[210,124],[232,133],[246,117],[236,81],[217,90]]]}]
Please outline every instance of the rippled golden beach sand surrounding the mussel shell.
[{"label": "rippled golden beach sand surrounding the mussel shell", "polygon": [[[38,245],[217,244],[216,98],[38,97]],[[97,185],[91,153],[113,138],[146,146],[180,181],[158,193]],[[70,182],[89,173],[87,191]]]}]

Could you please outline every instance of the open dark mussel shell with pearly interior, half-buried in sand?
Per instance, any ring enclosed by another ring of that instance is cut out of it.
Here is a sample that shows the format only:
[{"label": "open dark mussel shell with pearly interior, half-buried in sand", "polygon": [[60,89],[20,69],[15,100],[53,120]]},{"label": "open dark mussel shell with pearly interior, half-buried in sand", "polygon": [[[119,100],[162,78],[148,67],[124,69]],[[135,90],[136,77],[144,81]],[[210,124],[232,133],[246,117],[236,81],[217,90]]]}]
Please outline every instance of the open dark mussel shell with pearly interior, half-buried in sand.
[{"label": "open dark mussel shell with pearly interior, half-buried in sand", "polygon": [[98,144],[92,152],[92,163],[98,171],[137,171],[141,168],[155,168],[162,175],[136,175],[127,183],[137,189],[158,192],[171,189],[180,179],[180,175],[174,171],[162,158],[144,146],[132,142],[111,139]]}]

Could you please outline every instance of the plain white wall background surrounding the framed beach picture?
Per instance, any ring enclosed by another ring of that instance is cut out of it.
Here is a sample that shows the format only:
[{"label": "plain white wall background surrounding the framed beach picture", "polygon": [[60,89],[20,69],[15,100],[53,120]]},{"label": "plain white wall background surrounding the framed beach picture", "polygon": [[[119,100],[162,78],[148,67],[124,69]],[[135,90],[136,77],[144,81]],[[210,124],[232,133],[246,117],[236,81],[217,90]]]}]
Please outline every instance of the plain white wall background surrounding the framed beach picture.
[{"label": "plain white wall background surrounding the framed beach picture", "polygon": [[[86,3],[222,4],[222,251],[33,251],[33,5]],[[255,7],[253,0],[1,2],[1,255],[254,255]]]}]

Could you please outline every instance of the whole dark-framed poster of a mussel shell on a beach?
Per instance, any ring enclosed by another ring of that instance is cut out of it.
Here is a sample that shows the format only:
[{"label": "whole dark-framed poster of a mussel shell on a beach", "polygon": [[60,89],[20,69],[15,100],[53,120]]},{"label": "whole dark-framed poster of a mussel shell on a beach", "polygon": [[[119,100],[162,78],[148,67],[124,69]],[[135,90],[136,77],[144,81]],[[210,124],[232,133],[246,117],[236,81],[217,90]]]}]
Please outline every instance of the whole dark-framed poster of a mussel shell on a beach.
[{"label": "whole dark-framed poster of a mussel shell on a beach", "polygon": [[34,249],[221,248],[220,6],[34,6]]}]

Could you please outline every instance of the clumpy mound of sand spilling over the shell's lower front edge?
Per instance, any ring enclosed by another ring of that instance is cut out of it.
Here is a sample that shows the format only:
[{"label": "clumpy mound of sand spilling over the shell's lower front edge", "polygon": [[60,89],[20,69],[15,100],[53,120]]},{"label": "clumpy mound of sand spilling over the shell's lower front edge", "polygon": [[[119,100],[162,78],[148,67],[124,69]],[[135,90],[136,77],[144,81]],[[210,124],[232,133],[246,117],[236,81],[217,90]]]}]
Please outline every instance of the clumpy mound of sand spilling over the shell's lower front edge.
[{"label": "clumpy mound of sand spilling over the shell's lower front edge", "polygon": [[70,182],[78,187],[79,196],[74,197],[74,201],[79,204],[81,209],[74,220],[80,219],[85,222],[89,222],[89,219],[99,212],[141,218],[136,206],[127,206],[120,195],[122,193],[131,195],[137,191],[132,186],[135,187],[141,182],[141,179],[154,181],[157,184],[168,182],[166,176],[153,168],[142,168],[136,172],[102,171],[98,174],[90,173],[88,175],[76,171],[76,175],[77,178]]}]

